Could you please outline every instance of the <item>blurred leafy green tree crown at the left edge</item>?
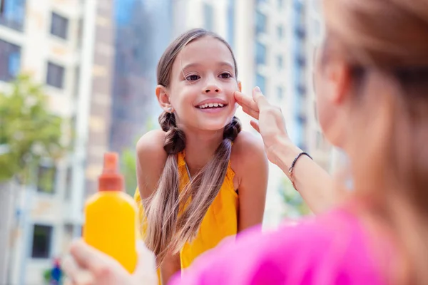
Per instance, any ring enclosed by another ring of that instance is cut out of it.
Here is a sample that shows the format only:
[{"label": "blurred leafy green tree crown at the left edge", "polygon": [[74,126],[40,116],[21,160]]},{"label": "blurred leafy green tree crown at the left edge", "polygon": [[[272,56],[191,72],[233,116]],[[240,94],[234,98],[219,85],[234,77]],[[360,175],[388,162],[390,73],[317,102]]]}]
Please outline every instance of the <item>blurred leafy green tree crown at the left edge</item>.
[{"label": "blurred leafy green tree crown at the left edge", "polygon": [[42,86],[21,75],[10,92],[0,92],[0,182],[28,184],[44,157],[56,160],[66,150],[63,119],[49,112]]}]

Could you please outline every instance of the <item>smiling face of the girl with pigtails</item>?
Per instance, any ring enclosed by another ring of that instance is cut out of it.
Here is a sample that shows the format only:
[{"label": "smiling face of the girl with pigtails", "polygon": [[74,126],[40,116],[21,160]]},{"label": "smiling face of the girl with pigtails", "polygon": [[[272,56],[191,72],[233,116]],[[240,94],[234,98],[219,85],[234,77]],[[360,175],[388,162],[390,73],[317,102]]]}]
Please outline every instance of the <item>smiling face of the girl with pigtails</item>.
[{"label": "smiling face of the girl with pigtails", "polygon": [[233,93],[240,90],[234,66],[228,47],[210,36],[178,53],[170,86],[158,95],[166,111],[172,108],[178,127],[221,130],[230,123],[237,108]]}]

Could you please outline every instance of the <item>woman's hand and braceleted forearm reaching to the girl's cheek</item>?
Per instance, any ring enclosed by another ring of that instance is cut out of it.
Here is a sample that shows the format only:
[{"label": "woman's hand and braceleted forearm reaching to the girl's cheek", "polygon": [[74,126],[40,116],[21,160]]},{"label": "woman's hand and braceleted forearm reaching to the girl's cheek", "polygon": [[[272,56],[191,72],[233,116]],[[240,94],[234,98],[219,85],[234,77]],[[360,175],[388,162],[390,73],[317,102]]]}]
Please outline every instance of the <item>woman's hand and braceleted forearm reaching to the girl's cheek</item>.
[{"label": "woman's hand and braceleted forearm reaching to the girl's cheek", "polygon": [[[251,125],[262,135],[267,158],[290,177],[292,161],[302,150],[290,140],[280,108],[270,105],[257,87],[253,90],[253,98],[235,92],[235,99],[245,113],[258,120]],[[335,197],[332,177],[309,157],[303,155],[299,159],[293,179],[312,212],[317,214],[332,207]]]}]

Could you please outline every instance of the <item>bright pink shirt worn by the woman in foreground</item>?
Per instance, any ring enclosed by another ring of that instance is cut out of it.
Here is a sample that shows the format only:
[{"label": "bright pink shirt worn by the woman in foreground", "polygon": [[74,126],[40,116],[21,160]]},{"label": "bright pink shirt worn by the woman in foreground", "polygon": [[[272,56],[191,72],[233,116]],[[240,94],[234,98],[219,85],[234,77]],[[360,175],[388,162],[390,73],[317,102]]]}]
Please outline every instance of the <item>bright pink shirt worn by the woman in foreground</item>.
[{"label": "bright pink shirt worn by the woman in foreground", "polygon": [[358,220],[336,209],[275,232],[250,229],[200,256],[169,284],[386,284],[381,268],[391,252],[371,246]]}]

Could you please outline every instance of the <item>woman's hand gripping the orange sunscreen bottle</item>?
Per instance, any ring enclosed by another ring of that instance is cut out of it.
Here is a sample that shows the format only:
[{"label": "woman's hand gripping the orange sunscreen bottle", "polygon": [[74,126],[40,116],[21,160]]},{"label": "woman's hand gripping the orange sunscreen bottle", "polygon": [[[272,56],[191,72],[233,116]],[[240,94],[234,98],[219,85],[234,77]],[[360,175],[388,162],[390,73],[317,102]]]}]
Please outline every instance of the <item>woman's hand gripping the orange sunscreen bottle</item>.
[{"label": "woman's hand gripping the orange sunscreen bottle", "polygon": [[115,259],[88,246],[81,239],[73,242],[71,257],[63,262],[72,285],[157,285],[156,261],[153,252],[143,242],[138,242],[138,264],[129,274]]}]

